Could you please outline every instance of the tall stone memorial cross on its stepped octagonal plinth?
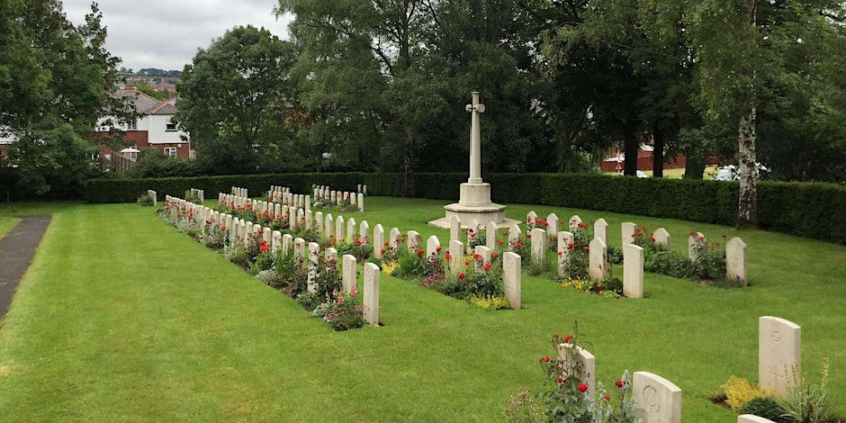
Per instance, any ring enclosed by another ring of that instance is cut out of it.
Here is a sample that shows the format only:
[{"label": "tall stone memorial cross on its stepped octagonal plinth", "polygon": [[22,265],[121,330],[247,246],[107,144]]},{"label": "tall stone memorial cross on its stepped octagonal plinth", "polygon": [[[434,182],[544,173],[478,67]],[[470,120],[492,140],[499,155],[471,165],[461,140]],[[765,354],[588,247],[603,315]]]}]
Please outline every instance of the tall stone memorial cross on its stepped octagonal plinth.
[{"label": "tall stone memorial cross on its stepped octagonal plinth", "polygon": [[471,93],[472,101],[464,107],[471,114],[470,118],[470,176],[460,186],[458,202],[447,204],[446,218],[432,220],[432,226],[449,229],[450,218],[457,216],[461,226],[469,228],[473,220],[494,222],[498,226],[510,226],[519,223],[505,218],[505,206],[491,202],[491,184],[482,182],[482,129],[480,114],[485,112],[485,105],[479,102],[479,92]]}]

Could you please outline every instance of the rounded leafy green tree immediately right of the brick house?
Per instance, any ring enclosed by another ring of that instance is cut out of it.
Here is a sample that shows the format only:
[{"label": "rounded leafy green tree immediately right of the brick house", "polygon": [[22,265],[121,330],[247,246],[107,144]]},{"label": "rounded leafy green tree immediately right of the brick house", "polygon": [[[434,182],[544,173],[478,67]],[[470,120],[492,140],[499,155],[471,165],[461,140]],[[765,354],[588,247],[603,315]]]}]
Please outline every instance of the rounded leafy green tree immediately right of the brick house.
[{"label": "rounded leafy green tree immediately right of the brick house", "polygon": [[[255,171],[255,148],[279,141],[279,132],[267,129],[298,113],[289,76],[295,58],[290,42],[238,26],[184,67],[174,119],[191,133],[208,170]],[[232,155],[240,166],[221,166],[219,159]]]}]

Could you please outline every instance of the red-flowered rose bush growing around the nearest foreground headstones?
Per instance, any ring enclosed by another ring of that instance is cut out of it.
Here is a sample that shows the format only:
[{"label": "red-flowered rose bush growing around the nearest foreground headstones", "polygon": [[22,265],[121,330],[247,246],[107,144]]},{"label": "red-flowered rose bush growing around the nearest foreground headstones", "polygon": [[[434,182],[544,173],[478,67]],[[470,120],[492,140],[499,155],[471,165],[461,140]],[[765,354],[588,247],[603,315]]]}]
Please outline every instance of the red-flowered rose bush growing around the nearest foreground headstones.
[{"label": "red-flowered rose bush growing around the nearest foreground headstones", "polygon": [[[504,410],[510,421],[567,421],[567,422],[639,422],[632,403],[632,385],[628,371],[617,380],[617,393],[612,398],[603,383],[597,383],[595,399],[589,398],[587,381],[583,380],[585,369],[581,365],[578,348],[580,344],[578,324],[572,335],[552,338],[552,357],[540,359],[545,373],[545,384],[541,391],[529,396],[528,391],[512,397],[509,408]],[[570,347],[562,347],[568,344]],[[617,403],[617,409],[611,401]]]}]

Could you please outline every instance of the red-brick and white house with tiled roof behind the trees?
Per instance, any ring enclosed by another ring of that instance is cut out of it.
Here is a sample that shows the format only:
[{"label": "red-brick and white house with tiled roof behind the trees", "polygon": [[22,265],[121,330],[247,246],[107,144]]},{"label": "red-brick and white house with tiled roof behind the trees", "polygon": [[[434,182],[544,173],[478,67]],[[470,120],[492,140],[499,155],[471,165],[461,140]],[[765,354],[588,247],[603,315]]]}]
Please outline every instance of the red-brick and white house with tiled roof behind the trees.
[{"label": "red-brick and white house with tiled roof behind the trees", "polygon": [[[119,90],[115,94],[132,96],[135,111],[139,114],[136,121],[123,124],[120,128],[120,130],[126,131],[123,140],[131,148],[157,148],[165,156],[193,157],[188,134],[182,130],[177,130],[175,123],[171,121],[176,113],[174,103],[160,102],[148,94],[131,88]],[[105,133],[111,131],[112,128],[100,125],[97,130]],[[101,143],[100,150],[105,161],[112,160],[112,148]]]}]

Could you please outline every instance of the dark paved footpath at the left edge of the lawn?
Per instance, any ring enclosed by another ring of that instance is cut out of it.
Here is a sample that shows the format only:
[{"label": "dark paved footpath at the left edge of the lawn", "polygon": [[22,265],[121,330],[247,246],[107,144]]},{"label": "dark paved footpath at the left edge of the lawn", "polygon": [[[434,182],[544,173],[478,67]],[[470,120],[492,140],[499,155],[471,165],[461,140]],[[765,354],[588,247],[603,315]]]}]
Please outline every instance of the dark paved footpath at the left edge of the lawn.
[{"label": "dark paved footpath at the left edge of the lawn", "polygon": [[9,310],[14,290],[32,263],[50,216],[23,216],[21,219],[0,239],[0,318]]}]

